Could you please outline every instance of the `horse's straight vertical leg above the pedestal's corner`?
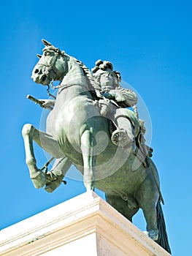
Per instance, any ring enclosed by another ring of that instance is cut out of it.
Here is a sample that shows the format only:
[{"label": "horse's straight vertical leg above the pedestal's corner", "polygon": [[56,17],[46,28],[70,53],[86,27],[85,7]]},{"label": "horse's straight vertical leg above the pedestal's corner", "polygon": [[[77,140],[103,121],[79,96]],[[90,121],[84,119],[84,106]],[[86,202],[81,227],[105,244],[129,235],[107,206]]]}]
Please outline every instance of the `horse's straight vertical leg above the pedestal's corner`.
[{"label": "horse's straight vertical leg above the pedestal's corner", "polygon": [[88,129],[85,130],[81,137],[81,151],[84,166],[83,181],[87,191],[94,189],[94,171],[96,166],[96,155],[94,154],[93,149],[94,144],[95,140],[93,137],[93,132]]}]

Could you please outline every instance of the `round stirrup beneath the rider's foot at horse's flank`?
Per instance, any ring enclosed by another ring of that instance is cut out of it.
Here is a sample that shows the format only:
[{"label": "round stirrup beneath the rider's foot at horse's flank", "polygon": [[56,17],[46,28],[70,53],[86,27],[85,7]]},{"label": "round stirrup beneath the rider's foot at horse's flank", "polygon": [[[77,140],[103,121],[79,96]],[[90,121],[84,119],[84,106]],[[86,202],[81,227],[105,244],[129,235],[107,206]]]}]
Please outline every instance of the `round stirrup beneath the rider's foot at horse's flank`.
[{"label": "round stirrup beneath the rider's foot at horse's flank", "polygon": [[113,144],[116,146],[121,146],[122,148],[132,143],[131,139],[126,133],[126,130],[124,129],[116,129],[114,132],[112,132],[111,140]]}]

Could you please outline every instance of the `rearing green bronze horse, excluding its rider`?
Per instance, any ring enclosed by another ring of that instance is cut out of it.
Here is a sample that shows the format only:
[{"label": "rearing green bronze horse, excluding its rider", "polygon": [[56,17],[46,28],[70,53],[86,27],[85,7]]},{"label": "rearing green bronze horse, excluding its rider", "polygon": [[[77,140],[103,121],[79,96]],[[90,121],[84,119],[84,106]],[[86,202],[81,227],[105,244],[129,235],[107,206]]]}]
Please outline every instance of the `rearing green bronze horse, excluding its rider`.
[{"label": "rearing green bronze horse, excluding its rider", "polygon": [[[43,55],[34,67],[32,78],[42,85],[51,80],[61,83],[55,106],[47,117],[46,133],[31,124],[23,127],[26,164],[34,187],[44,187],[46,175],[36,165],[33,140],[56,159],[63,158],[58,164],[66,171],[74,164],[83,175],[86,189],[96,187],[105,192],[107,202],[130,221],[142,208],[150,238],[170,252],[153,161],[149,158],[149,167],[145,167],[132,146],[123,150],[111,142],[110,121],[101,116],[96,106],[91,72],[50,42],[43,42]],[[128,116],[131,110],[116,108],[115,115],[122,117],[118,111]],[[124,119],[130,126],[129,119]]]}]

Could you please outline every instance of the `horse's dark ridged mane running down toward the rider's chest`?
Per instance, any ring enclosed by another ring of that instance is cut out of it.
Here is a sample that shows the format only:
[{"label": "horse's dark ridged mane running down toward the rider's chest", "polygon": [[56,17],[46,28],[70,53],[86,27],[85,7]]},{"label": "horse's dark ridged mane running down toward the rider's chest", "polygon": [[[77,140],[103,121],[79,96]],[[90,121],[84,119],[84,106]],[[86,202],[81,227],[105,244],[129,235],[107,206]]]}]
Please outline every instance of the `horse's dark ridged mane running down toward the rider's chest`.
[{"label": "horse's dark ridged mane running down toward the rider's chest", "polygon": [[91,71],[88,69],[88,67],[85,66],[85,64],[82,63],[82,61],[79,61],[77,59],[75,59],[75,61],[77,62],[77,64],[80,65],[80,67],[82,68],[82,72],[85,75],[85,78],[87,80],[88,86],[90,88],[91,91],[101,91],[101,87],[99,82],[96,80],[96,78],[93,76],[93,74],[91,73]]}]

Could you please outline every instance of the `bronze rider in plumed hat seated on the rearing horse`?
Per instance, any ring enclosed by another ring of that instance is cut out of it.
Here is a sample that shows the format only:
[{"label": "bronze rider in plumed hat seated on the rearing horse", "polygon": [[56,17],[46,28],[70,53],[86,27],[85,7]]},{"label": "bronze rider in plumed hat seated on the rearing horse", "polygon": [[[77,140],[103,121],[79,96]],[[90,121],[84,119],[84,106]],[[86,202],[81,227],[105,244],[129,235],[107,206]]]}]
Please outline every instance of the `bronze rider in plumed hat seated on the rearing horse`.
[{"label": "bronze rider in plumed hat seated on the rearing horse", "polygon": [[[93,67],[92,72],[94,77],[98,80],[100,86],[101,86],[101,98],[99,99],[99,108],[102,116],[113,116],[111,115],[112,110],[114,111],[114,108],[134,108],[137,112],[137,94],[130,90],[130,89],[123,89],[120,86],[120,72],[113,71],[112,70],[112,63],[110,61],[96,61],[96,66]],[[117,111],[117,110],[116,110]],[[130,114],[131,114],[130,110]],[[137,114],[137,113],[136,113]],[[118,116],[118,115],[117,115]],[[126,144],[129,145],[132,143],[135,153],[137,154],[137,157],[143,162],[143,164],[147,167],[147,160],[145,159],[147,155],[149,157],[152,156],[153,149],[145,145],[145,127],[144,127],[144,121],[139,121],[139,132],[134,132],[135,126],[137,126],[137,122],[133,122],[134,116],[129,116],[129,120],[132,121],[132,124],[130,122],[125,122],[125,118],[127,116],[123,116],[123,113],[120,113],[119,120],[123,120],[124,125],[122,121],[116,122],[117,130],[112,133],[112,142],[116,143],[116,145],[122,146],[123,148],[126,146]],[[138,117],[138,114],[137,114]],[[112,119],[112,118],[111,118]],[[114,122],[114,120],[112,120]],[[125,127],[126,124],[126,127]],[[126,138],[127,140],[123,140],[123,143],[120,141],[120,137]],[[135,140],[135,138],[137,139]],[[118,138],[119,141],[115,140],[115,138]],[[126,141],[126,142],[125,142]],[[137,146],[137,147],[136,147]]]}]

